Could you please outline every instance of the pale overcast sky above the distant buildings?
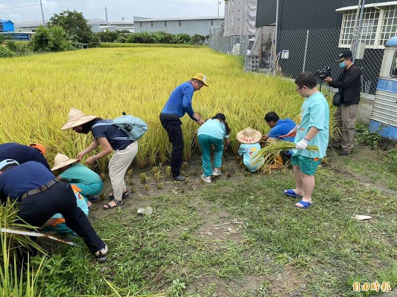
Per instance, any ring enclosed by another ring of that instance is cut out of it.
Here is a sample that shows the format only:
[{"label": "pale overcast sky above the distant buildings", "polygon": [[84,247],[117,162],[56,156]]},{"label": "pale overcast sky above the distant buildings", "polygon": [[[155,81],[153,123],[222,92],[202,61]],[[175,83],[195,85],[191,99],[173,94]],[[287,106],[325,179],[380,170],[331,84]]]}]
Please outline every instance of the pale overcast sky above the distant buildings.
[{"label": "pale overcast sky above the distant buildings", "polygon": [[[0,19],[40,20],[39,2],[40,0],[0,0]],[[219,15],[223,16],[224,1],[219,0],[219,2],[221,2]],[[154,18],[216,16],[219,2],[217,0],[42,0],[45,19],[67,8],[76,8],[86,18],[105,19],[106,5],[109,21],[119,21],[122,17],[132,21],[133,16]]]}]

